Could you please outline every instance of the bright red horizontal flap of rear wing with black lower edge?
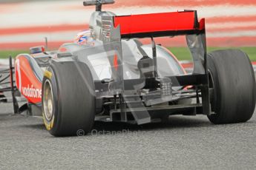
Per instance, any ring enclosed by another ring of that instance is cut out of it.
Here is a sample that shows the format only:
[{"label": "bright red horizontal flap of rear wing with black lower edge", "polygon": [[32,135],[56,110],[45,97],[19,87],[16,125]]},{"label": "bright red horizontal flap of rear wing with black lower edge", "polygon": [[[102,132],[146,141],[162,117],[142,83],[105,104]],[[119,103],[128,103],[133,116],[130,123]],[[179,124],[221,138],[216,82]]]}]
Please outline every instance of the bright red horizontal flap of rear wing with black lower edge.
[{"label": "bright red horizontal flap of rear wing with black lower edge", "polygon": [[121,38],[145,38],[198,34],[205,30],[204,18],[198,21],[196,10],[174,13],[151,13],[114,16]]}]

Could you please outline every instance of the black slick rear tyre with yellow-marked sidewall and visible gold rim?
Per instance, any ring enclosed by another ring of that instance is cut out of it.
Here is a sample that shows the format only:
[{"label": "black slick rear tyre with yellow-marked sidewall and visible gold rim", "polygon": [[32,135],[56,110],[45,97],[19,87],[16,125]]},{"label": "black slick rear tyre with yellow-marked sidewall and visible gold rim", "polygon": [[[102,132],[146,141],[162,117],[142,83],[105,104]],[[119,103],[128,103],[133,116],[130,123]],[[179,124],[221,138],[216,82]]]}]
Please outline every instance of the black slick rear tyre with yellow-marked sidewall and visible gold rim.
[{"label": "black slick rear tyre with yellow-marked sidewall and visible gold rim", "polygon": [[42,81],[42,115],[50,134],[86,135],[95,117],[94,92],[86,64],[52,61]]}]

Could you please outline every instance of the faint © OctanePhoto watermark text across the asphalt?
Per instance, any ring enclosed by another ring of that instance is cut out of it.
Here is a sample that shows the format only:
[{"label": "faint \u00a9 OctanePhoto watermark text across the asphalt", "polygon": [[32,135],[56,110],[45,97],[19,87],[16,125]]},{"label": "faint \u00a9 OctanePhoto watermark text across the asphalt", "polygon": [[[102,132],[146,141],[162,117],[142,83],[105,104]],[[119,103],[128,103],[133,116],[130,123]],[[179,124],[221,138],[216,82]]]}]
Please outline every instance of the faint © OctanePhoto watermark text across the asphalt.
[{"label": "faint \u00a9 OctanePhoto watermark text across the asphalt", "polygon": [[[85,136],[85,131],[82,129],[79,129],[76,132],[77,136]],[[140,130],[138,131],[131,131],[129,129],[122,129],[119,131],[108,131],[108,130],[97,130],[97,129],[93,129],[91,132],[88,133],[88,135],[92,135],[92,136],[98,136],[98,135],[136,135],[136,136],[140,136],[141,132]]]}]

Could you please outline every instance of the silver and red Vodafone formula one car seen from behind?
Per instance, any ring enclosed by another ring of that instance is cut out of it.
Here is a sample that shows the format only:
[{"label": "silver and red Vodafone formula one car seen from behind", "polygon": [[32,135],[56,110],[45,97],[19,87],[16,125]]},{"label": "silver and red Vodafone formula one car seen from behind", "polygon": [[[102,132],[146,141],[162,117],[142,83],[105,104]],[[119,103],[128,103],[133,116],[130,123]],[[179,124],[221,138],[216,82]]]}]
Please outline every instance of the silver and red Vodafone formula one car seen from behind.
[{"label": "silver and red Vodafone formula one car seen from behind", "polygon": [[[207,115],[212,123],[240,123],[255,109],[255,75],[240,50],[206,52],[204,18],[197,11],[116,16],[95,5],[90,30],[57,52],[43,47],[16,57],[16,88],[31,114],[42,114],[54,136],[84,135],[94,120],[152,123],[169,115]],[[187,74],[155,37],[186,35],[194,69]],[[141,38],[151,38],[142,44]]]}]

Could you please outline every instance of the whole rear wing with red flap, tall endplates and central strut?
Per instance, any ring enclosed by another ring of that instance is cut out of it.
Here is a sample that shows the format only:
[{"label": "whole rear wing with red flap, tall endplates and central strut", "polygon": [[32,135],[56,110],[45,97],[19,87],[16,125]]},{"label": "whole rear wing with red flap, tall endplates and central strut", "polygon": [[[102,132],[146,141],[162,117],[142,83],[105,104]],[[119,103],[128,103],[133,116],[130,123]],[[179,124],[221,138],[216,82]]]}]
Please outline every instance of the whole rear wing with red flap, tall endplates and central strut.
[{"label": "whole rear wing with red flap, tall endplates and central strut", "polygon": [[157,72],[154,37],[186,35],[186,42],[194,61],[192,74],[206,75],[206,79],[208,78],[205,19],[198,21],[196,10],[131,16],[103,15],[101,18],[102,22],[97,22],[97,26],[100,27],[99,40],[105,44],[105,51],[114,50],[116,53],[113,58],[109,58],[111,77],[119,84],[113,86],[113,89],[122,89],[122,38],[151,38],[153,69]]}]

